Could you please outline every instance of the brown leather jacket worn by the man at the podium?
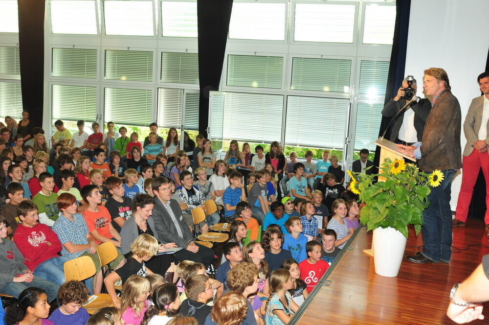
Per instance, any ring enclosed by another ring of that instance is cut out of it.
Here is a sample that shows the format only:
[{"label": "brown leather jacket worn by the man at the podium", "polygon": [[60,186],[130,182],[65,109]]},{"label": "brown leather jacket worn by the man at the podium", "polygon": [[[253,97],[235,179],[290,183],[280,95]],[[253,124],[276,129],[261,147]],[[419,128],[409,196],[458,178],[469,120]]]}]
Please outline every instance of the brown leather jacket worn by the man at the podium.
[{"label": "brown leather jacket worn by the man at the podium", "polygon": [[424,126],[419,160],[423,171],[462,168],[461,125],[458,99],[445,90],[433,105]]}]

